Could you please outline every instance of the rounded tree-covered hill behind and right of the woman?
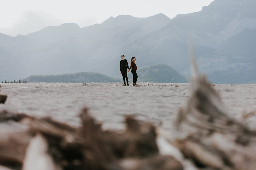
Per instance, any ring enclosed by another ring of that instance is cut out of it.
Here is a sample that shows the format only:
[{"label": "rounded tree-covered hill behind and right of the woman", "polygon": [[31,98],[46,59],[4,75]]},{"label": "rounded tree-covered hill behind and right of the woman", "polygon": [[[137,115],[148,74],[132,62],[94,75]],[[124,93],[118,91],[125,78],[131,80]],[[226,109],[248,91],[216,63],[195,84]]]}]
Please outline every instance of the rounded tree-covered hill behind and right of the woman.
[{"label": "rounded tree-covered hill behind and right of the woman", "polygon": [[[137,82],[154,83],[188,83],[188,79],[179,71],[165,64],[156,64],[150,67],[139,69]],[[130,83],[132,83],[132,73],[128,73]]]}]

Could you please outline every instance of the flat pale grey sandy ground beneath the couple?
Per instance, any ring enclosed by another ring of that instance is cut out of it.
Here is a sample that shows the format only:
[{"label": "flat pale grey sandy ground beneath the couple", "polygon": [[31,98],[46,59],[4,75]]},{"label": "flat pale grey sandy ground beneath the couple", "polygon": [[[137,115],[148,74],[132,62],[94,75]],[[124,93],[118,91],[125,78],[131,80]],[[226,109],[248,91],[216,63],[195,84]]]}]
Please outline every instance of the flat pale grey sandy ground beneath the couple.
[{"label": "flat pale grey sandy ground beneath the couple", "polygon": [[[212,86],[230,115],[241,118],[256,110],[256,84]],[[124,115],[171,129],[180,107],[191,95],[191,84],[140,83],[139,87],[121,83],[2,83],[0,93],[7,95],[6,109],[37,117],[51,116],[73,126],[80,124],[83,107],[104,129],[124,129]]]}]

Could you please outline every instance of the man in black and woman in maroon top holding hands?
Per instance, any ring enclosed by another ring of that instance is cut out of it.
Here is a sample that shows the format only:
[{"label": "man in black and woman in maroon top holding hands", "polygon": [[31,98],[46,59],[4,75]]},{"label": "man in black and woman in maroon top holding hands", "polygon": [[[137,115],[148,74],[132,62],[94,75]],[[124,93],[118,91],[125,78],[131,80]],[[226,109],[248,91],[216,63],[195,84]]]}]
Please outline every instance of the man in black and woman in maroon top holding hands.
[{"label": "man in black and woman in maroon top holding hands", "polygon": [[[127,60],[124,59],[124,55],[123,54],[121,55],[121,59],[122,60],[120,61],[120,73],[122,73],[122,76],[123,76],[123,79],[124,79],[124,85],[123,86],[126,86],[125,85],[125,78],[126,78],[127,85],[129,85],[128,77],[127,77],[127,71],[129,72],[130,69],[132,69],[133,86],[137,85],[136,83],[137,83],[138,75],[136,73],[136,70],[137,70],[137,66],[135,64],[136,58],[132,57],[131,63],[130,63],[130,65],[131,65],[130,68],[129,68]],[[126,69],[126,67],[127,67],[127,69]]]}]

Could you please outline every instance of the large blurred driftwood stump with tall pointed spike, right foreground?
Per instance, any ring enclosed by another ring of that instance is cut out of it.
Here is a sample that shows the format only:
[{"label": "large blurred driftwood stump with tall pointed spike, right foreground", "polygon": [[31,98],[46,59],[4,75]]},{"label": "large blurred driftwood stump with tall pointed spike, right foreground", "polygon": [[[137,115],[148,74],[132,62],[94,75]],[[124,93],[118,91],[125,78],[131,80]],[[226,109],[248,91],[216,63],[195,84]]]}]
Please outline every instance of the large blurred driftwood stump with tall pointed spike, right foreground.
[{"label": "large blurred driftwood stump with tall pointed spike, right foreground", "polygon": [[192,96],[180,109],[172,141],[198,167],[256,169],[256,131],[230,116],[194,64]]}]

